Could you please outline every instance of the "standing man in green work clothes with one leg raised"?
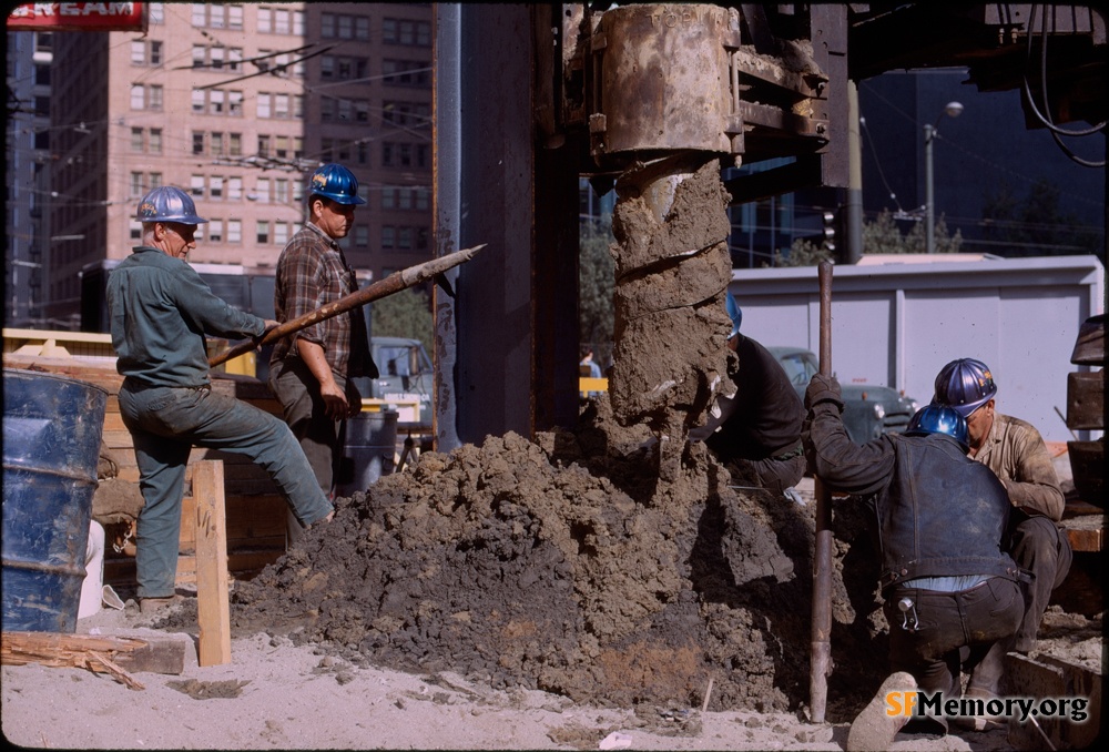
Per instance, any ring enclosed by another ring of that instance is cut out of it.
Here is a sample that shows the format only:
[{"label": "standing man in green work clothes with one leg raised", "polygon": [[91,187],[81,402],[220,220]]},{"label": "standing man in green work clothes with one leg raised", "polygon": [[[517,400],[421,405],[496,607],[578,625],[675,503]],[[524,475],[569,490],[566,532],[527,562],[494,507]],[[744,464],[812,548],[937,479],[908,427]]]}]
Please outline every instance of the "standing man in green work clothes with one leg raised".
[{"label": "standing man in green work clothes with one leg raised", "polygon": [[120,414],[131,431],[143,508],[135,566],[143,612],[173,600],[185,465],[194,446],[245,455],[285,496],[298,526],[330,519],[288,427],[265,410],[212,392],[205,335],[258,339],[277,325],[215,296],[185,261],[196,247],[189,194],[156,187],[139,202],[142,244],[108,280],[112,346],[125,378]]}]

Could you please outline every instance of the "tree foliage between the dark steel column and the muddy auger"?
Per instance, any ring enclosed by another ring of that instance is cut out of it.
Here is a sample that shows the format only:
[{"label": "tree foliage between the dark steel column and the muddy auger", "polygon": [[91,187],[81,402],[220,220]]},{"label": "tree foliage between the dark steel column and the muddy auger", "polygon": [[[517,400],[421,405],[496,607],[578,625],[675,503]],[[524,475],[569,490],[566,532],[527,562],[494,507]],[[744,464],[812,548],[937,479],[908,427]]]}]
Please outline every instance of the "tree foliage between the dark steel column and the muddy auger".
[{"label": "tree foliage between the dark steel column and the muddy auger", "polygon": [[606,364],[612,353],[615,313],[612,289],[615,263],[609,246],[615,243],[611,219],[582,222],[578,253],[578,336],[593,348],[593,359]]}]

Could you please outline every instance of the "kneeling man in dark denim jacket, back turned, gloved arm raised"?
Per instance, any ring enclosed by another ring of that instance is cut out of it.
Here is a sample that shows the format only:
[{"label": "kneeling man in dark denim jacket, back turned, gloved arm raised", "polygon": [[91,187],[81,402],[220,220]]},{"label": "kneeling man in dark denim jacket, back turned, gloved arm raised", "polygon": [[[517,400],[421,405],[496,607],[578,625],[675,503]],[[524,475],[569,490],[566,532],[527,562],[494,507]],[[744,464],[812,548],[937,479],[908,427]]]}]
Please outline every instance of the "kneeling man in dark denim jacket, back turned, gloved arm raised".
[{"label": "kneeling man in dark denim jacket, back turned, gloved arm raised", "polygon": [[928,710],[943,703],[923,700],[937,692],[958,699],[962,672],[1004,651],[1024,616],[1026,576],[1003,540],[1011,509],[1005,487],[966,456],[966,420],[949,407],[928,405],[904,434],[856,445],[841,419],[834,377],[814,376],[805,406],[803,440],[814,472],[832,491],[868,505],[889,624],[894,673],[852,723],[847,749],[888,749],[910,720],[907,712],[887,713],[891,691],[919,689],[917,708],[927,718],[914,726],[946,733],[947,720]]}]

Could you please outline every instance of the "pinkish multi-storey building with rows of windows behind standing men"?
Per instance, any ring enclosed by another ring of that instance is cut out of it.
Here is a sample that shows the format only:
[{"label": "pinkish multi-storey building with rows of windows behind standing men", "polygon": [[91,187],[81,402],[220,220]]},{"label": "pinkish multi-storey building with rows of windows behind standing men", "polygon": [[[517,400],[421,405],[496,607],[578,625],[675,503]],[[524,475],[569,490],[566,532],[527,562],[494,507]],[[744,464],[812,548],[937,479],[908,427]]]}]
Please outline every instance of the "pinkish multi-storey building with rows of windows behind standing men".
[{"label": "pinkish multi-storey building with rows of windows behind standing men", "polygon": [[339,162],[367,202],[343,241],[360,276],[430,257],[430,4],[150,3],[145,34],[54,37],[52,232],[81,240],[52,244],[50,316],[79,317],[82,270],[131,253],[159,185],[208,220],[190,261],[265,273]]}]

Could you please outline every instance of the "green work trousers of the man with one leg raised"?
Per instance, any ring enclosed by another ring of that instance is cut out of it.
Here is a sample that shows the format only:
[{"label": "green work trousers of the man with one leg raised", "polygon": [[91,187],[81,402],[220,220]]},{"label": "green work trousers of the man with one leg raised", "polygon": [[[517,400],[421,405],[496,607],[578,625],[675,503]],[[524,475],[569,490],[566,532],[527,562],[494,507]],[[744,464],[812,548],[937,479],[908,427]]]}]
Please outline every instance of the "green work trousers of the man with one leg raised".
[{"label": "green work trousers of the man with one leg raised", "polygon": [[185,466],[194,446],[245,455],[261,465],[302,525],[332,512],[281,418],[206,387],[144,387],[124,379],[119,399],[145,501],[135,536],[139,598],[173,595]]}]

